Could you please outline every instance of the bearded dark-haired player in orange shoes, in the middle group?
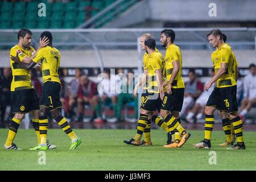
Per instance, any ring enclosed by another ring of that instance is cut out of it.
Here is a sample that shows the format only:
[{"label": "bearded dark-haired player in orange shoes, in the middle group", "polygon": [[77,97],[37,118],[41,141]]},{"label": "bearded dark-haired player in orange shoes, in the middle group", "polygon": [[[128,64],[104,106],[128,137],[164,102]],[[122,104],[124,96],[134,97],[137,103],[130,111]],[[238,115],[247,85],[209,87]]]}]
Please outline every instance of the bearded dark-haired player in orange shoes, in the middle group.
[{"label": "bearded dark-haired player in orange shoes, in the middle group", "polygon": [[164,29],[161,32],[160,42],[163,47],[166,47],[164,62],[166,65],[167,80],[162,85],[165,87],[164,90],[166,90],[166,92],[164,93],[160,115],[164,118],[164,122],[166,122],[171,134],[174,134],[176,129],[176,132],[183,135],[180,140],[166,144],[164,147],[167,148],[181,147],[191,136],[179,122],[179,112],[183,105],[185,84],[181,75],[181,51],[180,48],[174,44],[174,40],[174,30]]}]

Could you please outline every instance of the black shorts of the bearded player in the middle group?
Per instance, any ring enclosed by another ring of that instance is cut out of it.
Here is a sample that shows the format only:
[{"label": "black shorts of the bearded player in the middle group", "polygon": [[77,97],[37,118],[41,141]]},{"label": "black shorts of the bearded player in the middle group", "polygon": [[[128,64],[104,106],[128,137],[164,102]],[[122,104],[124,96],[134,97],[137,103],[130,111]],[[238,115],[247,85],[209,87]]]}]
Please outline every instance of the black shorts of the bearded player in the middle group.
[{"label": "black shorts of the bearded player in the middle group", "polygon": [[164,93],[161,109],[180,112],[184,100],[184,88],[173,89],[172,94]]}]

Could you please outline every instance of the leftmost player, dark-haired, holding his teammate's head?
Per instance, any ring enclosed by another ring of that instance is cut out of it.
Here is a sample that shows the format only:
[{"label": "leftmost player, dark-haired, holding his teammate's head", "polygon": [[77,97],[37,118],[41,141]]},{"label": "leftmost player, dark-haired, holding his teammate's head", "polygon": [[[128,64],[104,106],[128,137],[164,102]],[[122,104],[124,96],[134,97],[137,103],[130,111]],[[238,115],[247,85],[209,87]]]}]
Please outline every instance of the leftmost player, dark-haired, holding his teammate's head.
[{"label": "leftmost player, dark-haired, holding his teammate's head", "polygon": [[[28,60],[29,57],[34,57],[35,51],[30,46],[32,40],[32,32],[27,28],[22,28],[18,31],[19,43],[11,48],[10,56],[18,55],[21,61]],[[47,39],[40,40],[39,48],[42,48],[48,43]],[[18,131],[20,122],[24,118],[26,113],[33,115],[32,124],[38,137],[38,143],[40,143],[39,133],[39,121],[38,121],[38,110],[39,110],[39,99],[35,92],[34,87],[31,84],[30,71],[23,69],[19,64],[15,63],[10,59],[11,71],[13,73],[13,81],[11,82],[11,108],[14,114],[13,119],[10,122],[9,134],[5,142],[5,148],[11,150],[19,150],[13,143],[16,133]],[[49,148],[56,148],[47,143]]]}]

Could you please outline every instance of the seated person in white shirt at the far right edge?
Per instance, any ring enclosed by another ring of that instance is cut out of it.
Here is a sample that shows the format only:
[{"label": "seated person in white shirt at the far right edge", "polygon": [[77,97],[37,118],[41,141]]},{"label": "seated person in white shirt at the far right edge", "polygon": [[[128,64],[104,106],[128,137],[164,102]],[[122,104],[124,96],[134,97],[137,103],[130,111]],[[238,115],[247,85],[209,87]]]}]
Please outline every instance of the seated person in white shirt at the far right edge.
[{"label": "seated person in white shirt at the far right edge", "polygon": [[255,64],[250,64],[249,74],[243,81],[243,100],[241,105],[240,117],[244,120],[245,115],[250,111],[251,107],[256,103],[256,68]]}]

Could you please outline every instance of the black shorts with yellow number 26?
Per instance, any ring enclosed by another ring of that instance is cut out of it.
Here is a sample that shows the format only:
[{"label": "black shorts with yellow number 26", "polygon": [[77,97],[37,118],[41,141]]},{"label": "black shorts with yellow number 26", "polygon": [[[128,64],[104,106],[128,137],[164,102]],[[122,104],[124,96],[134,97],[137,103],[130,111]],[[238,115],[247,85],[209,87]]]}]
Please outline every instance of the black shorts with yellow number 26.
[{"label": "black shorts with yellow number 26", "polygon": [[218,110],[228,111],[228,113],[238,111],[237,85],[225,88],[214,88],[208,98],[206,106],[217,107]]}]

